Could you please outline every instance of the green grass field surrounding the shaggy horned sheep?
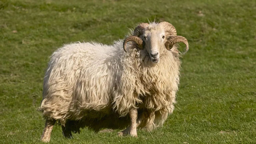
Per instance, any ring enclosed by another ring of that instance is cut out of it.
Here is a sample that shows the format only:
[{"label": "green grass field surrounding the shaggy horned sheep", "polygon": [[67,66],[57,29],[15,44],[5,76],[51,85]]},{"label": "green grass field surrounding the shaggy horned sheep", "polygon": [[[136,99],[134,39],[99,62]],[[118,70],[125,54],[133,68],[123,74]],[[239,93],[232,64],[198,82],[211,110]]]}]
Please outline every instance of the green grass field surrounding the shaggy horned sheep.
[{"label": "green grass field surrounding the shaggy horned sheep", "polygon": [[177,104],[138,138],[83,129],[52,144],[256,143],[256,2],[253,0],[0,0],[0,143],[41,143],[36,111],[48,57],[64,43],[111,44],[138,22],[168,21],[186,37]]}]

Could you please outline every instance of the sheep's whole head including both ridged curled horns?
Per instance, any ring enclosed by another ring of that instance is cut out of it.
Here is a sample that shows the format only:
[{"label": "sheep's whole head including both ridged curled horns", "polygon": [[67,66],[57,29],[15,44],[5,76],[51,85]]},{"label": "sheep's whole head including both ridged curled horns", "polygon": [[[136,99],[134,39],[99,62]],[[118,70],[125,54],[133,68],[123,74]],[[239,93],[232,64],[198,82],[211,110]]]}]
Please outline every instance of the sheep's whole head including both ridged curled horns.
[{"label": "sheep's whole head including both ridged curled horns", "polygon": [[168,22],[141,23],[135,29],[132,36],[124,40],[123,48],[126,50],[126,44],[134,41],[139,49],[146,48],[153,63],[159,62],[159,57],[165,50],[171,50],[173,45],[183,42],[188,51],[188,41],[182,36],[177,36],[176,29]]}]

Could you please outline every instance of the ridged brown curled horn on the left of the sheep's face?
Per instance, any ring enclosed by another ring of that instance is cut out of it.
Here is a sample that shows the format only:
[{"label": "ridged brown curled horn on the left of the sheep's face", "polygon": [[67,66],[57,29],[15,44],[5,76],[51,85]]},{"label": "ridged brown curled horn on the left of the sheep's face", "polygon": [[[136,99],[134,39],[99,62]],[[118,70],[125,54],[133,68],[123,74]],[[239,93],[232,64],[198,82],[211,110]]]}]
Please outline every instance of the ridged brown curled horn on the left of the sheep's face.
[{"label": "ridged brown curled horn on the left of the sheep's face", "polygon": [[143,49],[143,40],[140,38],[140,35],[143,34],[143,30],[148,27],[148,24],[147,23],[141,23],[139,24],[135,29],[134,29],[134,32],[133,32],[133,35],[127,37],[126,39],[124,39],[124,42],[123,42],[123,48],[124,48],[124,51],[127,52],[127,49],[126,49],[126,44],[127,42],[129,41],[134,41],[136,42],[136,44],[138,45],[138,48],[139,49]]}]

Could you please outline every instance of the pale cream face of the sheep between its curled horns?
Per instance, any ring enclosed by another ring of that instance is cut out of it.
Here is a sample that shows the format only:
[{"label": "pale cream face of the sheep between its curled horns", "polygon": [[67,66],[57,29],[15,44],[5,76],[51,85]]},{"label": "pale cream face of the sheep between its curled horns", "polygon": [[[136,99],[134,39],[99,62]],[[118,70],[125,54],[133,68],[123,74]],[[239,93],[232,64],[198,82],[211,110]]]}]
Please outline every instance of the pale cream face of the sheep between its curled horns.
[{"label": "pale cream face of the sheep between its curled horns", "polygon": [[161,52],[165,49],[165,31],[158,24],[151,24],[145,30],[144,33],[140,36],[144,41],[144,48],[147,50],[153,63],[159,63]]}]

